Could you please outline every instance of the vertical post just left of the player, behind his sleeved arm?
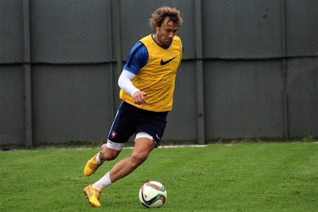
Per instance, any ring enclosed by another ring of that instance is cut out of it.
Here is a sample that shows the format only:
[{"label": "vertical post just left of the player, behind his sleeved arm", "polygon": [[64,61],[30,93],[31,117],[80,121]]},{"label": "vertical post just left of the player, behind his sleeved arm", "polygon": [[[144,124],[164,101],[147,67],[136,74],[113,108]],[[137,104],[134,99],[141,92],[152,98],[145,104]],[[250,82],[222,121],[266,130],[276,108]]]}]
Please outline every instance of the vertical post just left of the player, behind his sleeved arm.
[{"label": "vertical post just left of the player, behind his sleeved arm", "polygon": [[[121,8],[120,8],[120,0],[115,1],[115,36],[116,36],[116,61],[117,61],[117,79],[119,75],[122,72],[123,69],[123,55],[122,55],[122,34],[121,34]],[[117,82],[117,81],[116,81]],[[117,83],[115,84],[117,85]],[[119,88],[118,86],[115,86],[115,97],[114,102],[116,103],[115,111],[117,110],[117,107],[119,106]]]}]

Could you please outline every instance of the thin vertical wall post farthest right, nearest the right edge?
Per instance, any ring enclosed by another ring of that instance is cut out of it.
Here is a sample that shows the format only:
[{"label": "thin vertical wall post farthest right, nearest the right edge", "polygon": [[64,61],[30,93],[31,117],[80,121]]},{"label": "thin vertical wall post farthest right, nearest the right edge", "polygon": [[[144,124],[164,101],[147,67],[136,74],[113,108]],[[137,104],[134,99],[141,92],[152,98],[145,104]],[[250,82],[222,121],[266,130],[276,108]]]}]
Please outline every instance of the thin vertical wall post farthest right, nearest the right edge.
[{"label": "thin vertical wall post farthest right, nearest the right edge", "polygon": [[286,19],[285,19],[285,0],[282,0],[282,54],[283,54],[283,111],[284,111],[284,139],[288,140],[288,99],[286,91]]}]

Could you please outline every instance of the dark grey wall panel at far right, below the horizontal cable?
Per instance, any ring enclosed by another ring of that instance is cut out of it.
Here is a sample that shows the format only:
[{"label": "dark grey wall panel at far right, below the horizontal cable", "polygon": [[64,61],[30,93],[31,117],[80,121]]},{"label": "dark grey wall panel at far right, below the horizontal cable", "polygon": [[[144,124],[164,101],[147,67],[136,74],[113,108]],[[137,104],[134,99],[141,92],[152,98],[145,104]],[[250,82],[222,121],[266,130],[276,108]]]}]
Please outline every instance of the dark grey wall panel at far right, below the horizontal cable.
[{"label": "dark grey wall panel at far right, below the horizontal cable", "polygon": [[318,135],[318,59],[287,61],[289,136]]}]

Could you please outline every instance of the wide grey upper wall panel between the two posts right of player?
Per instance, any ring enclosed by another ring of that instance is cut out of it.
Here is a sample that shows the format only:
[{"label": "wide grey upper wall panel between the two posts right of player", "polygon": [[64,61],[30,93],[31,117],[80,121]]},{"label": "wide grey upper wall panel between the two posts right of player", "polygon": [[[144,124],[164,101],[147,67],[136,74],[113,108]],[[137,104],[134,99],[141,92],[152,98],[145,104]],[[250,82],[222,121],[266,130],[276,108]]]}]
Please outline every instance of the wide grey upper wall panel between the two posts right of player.
[{"label": "wide grey upper wall panel between the two posts right of player", "polygon": [[281,1],[203,0],[202,15],[205,58],[282,55]]}]

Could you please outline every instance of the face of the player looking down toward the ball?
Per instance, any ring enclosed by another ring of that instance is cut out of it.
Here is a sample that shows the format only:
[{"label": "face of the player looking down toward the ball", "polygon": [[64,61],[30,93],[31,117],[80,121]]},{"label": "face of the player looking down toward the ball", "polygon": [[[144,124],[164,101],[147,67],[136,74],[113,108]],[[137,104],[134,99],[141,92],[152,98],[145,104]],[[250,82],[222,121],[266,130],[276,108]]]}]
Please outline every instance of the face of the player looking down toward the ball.
[{"label": "face of the player looking down toward the ball", "polygon": [[156,26],[156,42],[161,46],[169,45],[178,29],[179,27],[166,17],[160,27]]}]

